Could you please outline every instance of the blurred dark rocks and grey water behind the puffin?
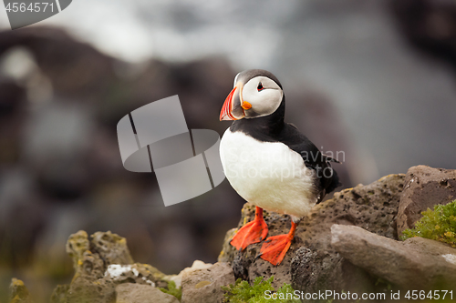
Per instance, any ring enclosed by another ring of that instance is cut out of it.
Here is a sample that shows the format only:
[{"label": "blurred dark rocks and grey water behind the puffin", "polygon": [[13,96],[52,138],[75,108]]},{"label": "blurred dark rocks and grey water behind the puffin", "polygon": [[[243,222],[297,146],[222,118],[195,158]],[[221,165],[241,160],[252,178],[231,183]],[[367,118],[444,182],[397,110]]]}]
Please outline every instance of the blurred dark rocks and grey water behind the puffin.
[{"label": "blurred dark rocks and grey water behind the puffin", "polygon": [[229,184],[164,207],[153,174],[126,171],[116,125],[179,95],[189,128],[219,122],[233,77],[272,71],[287,119],[342,151],[344,187],[418,164],[456,168],[451,0],[78,0],[11,31],[0,12],[0,302],[69,283],[70,234],[111,230],[166,274],[214,263],[243,199]]}]

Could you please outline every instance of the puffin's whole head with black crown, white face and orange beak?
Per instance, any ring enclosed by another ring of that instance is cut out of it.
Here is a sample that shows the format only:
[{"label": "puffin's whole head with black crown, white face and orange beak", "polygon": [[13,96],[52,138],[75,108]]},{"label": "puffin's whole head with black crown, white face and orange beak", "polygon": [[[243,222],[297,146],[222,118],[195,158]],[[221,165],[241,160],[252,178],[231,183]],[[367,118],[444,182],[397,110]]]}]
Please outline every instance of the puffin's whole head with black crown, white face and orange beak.
[{"label": "puffin's whole head with black crown, white face and orange beak", "polygon": [[263,69],[248,69],[234,78],[234,88],[226,97],[220,120],[269,116],[281,105],[284,92],[279,80]]}]

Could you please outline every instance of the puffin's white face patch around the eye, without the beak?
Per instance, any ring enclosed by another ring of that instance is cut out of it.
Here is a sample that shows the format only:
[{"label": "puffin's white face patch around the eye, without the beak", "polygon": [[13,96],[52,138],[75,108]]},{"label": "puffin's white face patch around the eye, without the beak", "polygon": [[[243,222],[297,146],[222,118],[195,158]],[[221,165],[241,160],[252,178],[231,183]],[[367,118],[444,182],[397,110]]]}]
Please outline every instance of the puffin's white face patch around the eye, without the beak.
[{"label": "puffin's white face patch around the eye, without the beak", "polygon": [[241,98],[252,105],[244,110],[245,118],[268,116],[275,112],[282,102],[284,92],[275,81],[266,76],[255,76],[244,85]]}]

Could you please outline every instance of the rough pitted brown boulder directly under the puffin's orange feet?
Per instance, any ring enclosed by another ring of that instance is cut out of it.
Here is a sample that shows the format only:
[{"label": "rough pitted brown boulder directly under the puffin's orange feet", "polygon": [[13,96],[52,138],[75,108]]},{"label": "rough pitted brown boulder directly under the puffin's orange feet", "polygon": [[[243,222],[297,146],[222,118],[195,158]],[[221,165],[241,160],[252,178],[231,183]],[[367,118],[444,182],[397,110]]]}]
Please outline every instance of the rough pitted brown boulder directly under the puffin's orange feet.
[{"label": "rough pitted brown boulder directly under the puffin's orange feet", "polygon": [[[354,225],[384,237],[397,239],[396,217],[405,175],[389,175],[368,186],[342,190],[312,209],[296,228],[295,239],[279,266],[255,258],[262,243],[238,252],[229,245],[230,230],[223,243],[219,261],[233,262],[235,278],[249,282],[262,276],[274,275],[273,286],[291,283],[300,291],[318,289],[351,290],[373,285],[368,274],[344,260],[331,246],[330,227],[333,224]],[[254,219],[254,206],[245,204],[238,227]],[[288,216],[264,211],[269,236],[287,233],[291,223]],[[375,279],[374,281],[375,282]]]}]

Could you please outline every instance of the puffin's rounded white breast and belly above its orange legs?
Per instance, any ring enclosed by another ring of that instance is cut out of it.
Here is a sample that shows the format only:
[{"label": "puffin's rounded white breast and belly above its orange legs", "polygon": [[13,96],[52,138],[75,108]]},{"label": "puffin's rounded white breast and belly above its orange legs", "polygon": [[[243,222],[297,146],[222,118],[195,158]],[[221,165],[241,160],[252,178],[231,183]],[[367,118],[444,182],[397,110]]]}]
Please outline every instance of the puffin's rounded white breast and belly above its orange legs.
[{"label": "puffin's rounded white breast and belly above its orange legs", "polygon": [[283,143],[262,142],[228,128],[220,157],[232,187],[257,207],[304,217],[316,204],[312,170]]}]

